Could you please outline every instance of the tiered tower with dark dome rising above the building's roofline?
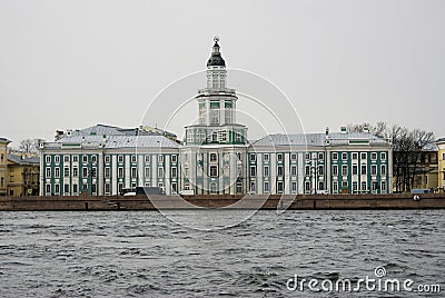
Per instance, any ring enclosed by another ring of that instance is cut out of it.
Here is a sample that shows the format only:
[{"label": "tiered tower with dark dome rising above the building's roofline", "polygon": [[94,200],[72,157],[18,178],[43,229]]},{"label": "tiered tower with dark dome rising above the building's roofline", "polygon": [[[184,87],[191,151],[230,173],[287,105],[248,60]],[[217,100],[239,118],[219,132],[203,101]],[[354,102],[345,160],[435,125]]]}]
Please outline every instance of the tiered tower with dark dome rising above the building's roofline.
[{"label": "tiered tower with dark dome rising above the building's roofline", "polygon": [[186,127],[186,145],[245,145],[247,128],[236,123],[237,96],[226,87],[227,70],[219,51],[219,38],[207,61],[207,87],[198,90],[198,125]]}]

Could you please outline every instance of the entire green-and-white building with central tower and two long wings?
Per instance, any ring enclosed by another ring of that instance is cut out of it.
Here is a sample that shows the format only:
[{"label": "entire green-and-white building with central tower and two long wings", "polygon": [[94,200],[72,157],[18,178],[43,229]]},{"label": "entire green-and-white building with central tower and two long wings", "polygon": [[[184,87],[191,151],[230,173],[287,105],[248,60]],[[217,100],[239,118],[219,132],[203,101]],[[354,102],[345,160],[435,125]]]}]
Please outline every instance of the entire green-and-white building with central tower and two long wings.
[{"label": "entire green-and-white building with central tower and two long wings", "polygon": [[215,39],[197,125],[184,143],[157,129],[95,126],[59,131],[40,147],[41,195],[117,195],[156,186],[167,195],[388,193],[392,145],[368,132],[269,135],[250,142]]}]

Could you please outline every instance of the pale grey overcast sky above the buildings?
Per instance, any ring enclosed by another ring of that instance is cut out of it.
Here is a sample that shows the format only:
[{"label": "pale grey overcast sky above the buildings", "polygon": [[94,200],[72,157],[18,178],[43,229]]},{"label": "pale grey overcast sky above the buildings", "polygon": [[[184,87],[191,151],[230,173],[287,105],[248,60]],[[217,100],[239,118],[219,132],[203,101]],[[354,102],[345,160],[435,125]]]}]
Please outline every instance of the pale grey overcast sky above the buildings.
[{"label": "pale grey overcast sky above the buildings", "polygon": [[[382,120],[445,137],[444,13],[442,0],[0,0],[0,137],[155,126],[171,111],[145,115],[149,102],[205,69],[214,36],[226,64],[279,87],[308,132]],[[196,92],[206,78],[191,81]],[[176,121],[182,136],[189,119]]]}]

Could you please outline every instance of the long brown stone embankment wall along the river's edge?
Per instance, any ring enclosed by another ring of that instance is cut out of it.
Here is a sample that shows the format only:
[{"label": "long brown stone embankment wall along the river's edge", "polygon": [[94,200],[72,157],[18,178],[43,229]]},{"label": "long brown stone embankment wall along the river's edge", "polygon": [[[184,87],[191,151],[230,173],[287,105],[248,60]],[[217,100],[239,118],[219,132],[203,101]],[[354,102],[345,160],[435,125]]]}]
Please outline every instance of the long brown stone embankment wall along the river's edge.
[{"label": "long brown stone embankment wall along the river's edge", "polygon": [[0,211],[92,211],[166,209],[441,209],[445,193],[299,196],[52,196],[0,197]]}]

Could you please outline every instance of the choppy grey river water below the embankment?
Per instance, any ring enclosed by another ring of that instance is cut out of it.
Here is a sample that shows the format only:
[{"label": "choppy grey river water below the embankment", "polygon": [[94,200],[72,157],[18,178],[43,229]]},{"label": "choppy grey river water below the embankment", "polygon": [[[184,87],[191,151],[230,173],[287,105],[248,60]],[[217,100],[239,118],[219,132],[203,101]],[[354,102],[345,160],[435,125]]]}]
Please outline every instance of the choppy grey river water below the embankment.
[{"label": "choppy grey river water below the embankment", "polygon": [[[174,211],[220,220],[240,211]],[[0,212],[1,297],[417,297],[289,291],[299,278],[387,277],[445,292],[443,210],[259,211],[199,231],[156,211]]]}]

